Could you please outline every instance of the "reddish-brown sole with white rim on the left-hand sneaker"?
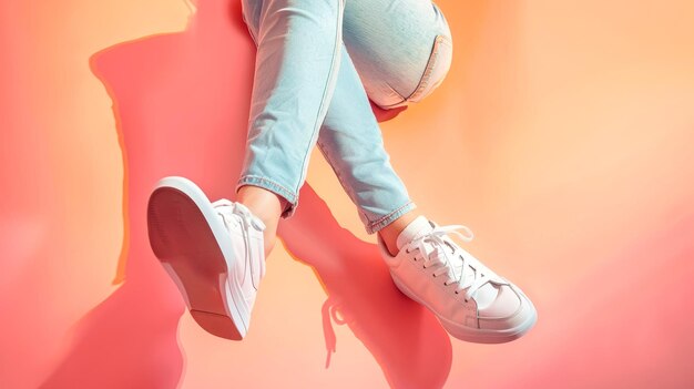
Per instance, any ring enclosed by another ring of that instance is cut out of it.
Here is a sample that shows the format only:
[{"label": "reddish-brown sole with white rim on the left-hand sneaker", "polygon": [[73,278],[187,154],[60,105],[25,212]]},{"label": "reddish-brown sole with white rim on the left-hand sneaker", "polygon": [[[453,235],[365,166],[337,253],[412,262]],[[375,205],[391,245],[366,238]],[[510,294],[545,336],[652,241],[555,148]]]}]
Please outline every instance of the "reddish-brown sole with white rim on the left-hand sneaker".
[{"label": "reddish-brown sole with white rim on the left-hand sneaker", "polygon": [[238,284],[227,283],[235,260],[228,232],[203,191],[187,178],[161,180],[147,203],[147,233],[193,319],[212,335],[243,339],[249,313]]}]

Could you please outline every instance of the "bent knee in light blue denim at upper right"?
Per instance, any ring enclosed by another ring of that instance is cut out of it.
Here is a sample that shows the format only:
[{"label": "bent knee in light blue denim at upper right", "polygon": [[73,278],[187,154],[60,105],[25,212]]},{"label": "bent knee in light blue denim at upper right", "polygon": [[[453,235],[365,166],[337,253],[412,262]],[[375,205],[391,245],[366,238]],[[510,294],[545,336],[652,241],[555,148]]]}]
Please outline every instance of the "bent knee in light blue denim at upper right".
[{"label": "bent knee in light blue denim at upper right", "polygon": [[344,27],[364,88],[384,109],[421,101],[451,66],[450,27],[431,0],[351,0]]}]

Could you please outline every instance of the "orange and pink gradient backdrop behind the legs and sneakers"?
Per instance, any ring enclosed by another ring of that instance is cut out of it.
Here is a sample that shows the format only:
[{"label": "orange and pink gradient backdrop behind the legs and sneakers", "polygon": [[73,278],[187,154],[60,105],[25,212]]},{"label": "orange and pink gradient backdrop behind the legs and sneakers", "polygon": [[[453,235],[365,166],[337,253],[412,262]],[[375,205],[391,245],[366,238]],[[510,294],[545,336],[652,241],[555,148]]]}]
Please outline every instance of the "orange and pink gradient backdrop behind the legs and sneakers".
[{"label": "orange and pink gradient backdrop behind the legs and sneakers", "polygon": [[[440,354],[377,349],[334,324],[326,369],[322,309],[345,280],[330,284],[320,266],[336,235],[316,235],[312,252],[290,222],[248,338],[203,331],[145,245],[144,214],[129,209],[155,177],[181,172],[234,198],[236,176],[215,170],[247,120],[254,47],[239,4],[198,0],[196,14],[172,0],[2,1],[0,387],[414,387],[408,359],[438,366],[431,386],[446,388],[692,387],[694,3],[437,4],[451,71],[420,104],[378,112],[386,147],[420,211],[472,228],[469,249],[533,299],[529,335],[448,340],[379,283],[405,310],[375,313],[377,338],[392,326],[408,341],[436,339]],[[166,100],[181,91],[197,94]],[[180,126],[166,133],[170,122]],[[175,143],[195,132],[207,143]],[[317,150],[307,183],[306,198],[323,198],[354,242],[376,242]],[[322,250],[320,266],[302,257]],[[355,259],[358,272],[382,275],[368,259]],[[407,309],[427,331],[388,321]]]}]

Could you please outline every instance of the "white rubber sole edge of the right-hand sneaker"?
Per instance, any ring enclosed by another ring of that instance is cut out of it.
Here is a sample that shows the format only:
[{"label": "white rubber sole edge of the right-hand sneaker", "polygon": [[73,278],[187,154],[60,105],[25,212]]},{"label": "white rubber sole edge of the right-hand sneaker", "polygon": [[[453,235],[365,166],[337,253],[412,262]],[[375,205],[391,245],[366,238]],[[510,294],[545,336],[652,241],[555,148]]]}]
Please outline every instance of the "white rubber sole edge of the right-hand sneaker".
[{"label": "white rubber sole edge of the right-hand sneaker", "polygon": [[398,289],[402,291],[402,294],[405,294],[407,297],[411,298],[412,300],[421,304],[427,309],[429,309],[433,315],[436,315],[436,317],[439,319],[439,323],[441,324],[441,326],[443,326],[443,328],[448,331],[448,334],[450,334],[451,336],[460,340],[476,342],[476,344],[504,344],[504,342],[516,340],[522,337],[538,321],[538,313],[534,306],[532,305],[532,301],[530,301],[530,299],[522,291],[520,291],[518,287],[514,287],[514,289],[524,297],[525,301],[528,301],[528,304],[530,305],[528,309],[531,309],[531,313],[532,313],[532,315],[528,317],[525,321],[523,321],[522,324],[516,327],[503,329],[503,330],[473,329],[470,327],[460,326],[457,323],[450,321],[441,317],[441,315],[439,315],[435,309],[432,309],[427,303],[421,300],[407,286],[401,284],[397,279],[397,277],[392,276],[392,280],[395,285],[398,287]]}]

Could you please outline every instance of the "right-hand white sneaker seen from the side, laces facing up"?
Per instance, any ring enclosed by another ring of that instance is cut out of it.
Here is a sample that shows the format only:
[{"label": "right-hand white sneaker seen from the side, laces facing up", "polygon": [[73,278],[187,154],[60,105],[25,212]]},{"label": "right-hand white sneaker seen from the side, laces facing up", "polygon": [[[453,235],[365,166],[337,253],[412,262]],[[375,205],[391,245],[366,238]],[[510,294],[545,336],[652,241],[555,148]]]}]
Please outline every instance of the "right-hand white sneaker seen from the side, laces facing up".
[{"label": "right-hand white sneaker seen from the side, laces facing up", "polygon": [[466,242],[472,239],[468,227],[438,226],[423,216],[400,233],[396,256],[378,235],[379,250],[397,287],[429,308],[458,339],[498,344],[528,332],[538,317],[530,299],[459,247],[447,233]]}]

